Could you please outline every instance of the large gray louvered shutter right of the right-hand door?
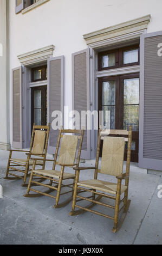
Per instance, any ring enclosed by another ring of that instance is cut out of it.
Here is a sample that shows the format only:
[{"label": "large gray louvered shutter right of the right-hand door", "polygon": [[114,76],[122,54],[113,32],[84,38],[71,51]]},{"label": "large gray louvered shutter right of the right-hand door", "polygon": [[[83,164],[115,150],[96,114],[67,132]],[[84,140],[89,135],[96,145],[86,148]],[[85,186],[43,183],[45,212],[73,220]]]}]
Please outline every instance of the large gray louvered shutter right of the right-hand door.
[{"label": "large gray louvered shutter right of the right-hand door", "polygon": [[162,31],[140,40],[139,167],[162,170]]}]

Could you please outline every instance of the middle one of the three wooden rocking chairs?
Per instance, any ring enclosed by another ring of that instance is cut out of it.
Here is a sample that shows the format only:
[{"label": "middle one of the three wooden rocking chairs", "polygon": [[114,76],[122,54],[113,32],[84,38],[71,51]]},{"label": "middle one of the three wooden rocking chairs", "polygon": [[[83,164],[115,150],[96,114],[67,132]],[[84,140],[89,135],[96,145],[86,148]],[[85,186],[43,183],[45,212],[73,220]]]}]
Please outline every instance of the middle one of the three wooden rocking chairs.
[{"label": "middle one of the three wooden rocking chairs", "polygon": [[[63,133],[66,133],[66,135],[64,135]],[[69,135],[69,133],[71,134],[73,133],[74,135]],[[60,208],[68,204],[72,200],[73,197],[71,196],[69,199],[59,204],[59,199],[61,195],[64,195],[70,192],[72,192],[73,194],[75,174],[64,172],[64,168],[65,167],[72,168],[74,166],[79,166],[83,135],[84,135],[84,130],[60,129],[54,160],[46,159],[46,161],[53,162],[53,168],[50,170],[49,169],[35,170],[35,164],[36,164],[36,161],[38,161],[38,159],[34,159],[34,164],[30,174],[27,194],[24,194],[24,197],[38,197],[38,196],[44,195],[51,198],[55,198],[55,205],[54,205],[55,208]],[[60,144],[61,144],[60,154],[59,154],[59,160],[57,162],[57,156],[59,153]],[[77,145],[78,145],[78,150],[77,150]],[[76,163],[75,163],[75,158],[76,158]],[[61,171],[56,170],[56,166],[61,166]],[[34,181],[34,176],[46,179],[48,181],[48,184]],[[68,179],[72,179],[73,182],[71,182],[71,184],[63,184],[63,180],[68,180]],[[55,186],[53,186],[53,184]],[[31,185],[44,186],[44,187],[47,187],[48,190],[38,191],[34,188],[31,188]],[[68,187],[70,188],[70,190],[68,190],[67,192],[61,193],[61,188],[63,187]],[[56,196],[49,194],[54,190],[57,191]],[[34,191],[36,193],[30,194],[29,193],[30,191]]]}]

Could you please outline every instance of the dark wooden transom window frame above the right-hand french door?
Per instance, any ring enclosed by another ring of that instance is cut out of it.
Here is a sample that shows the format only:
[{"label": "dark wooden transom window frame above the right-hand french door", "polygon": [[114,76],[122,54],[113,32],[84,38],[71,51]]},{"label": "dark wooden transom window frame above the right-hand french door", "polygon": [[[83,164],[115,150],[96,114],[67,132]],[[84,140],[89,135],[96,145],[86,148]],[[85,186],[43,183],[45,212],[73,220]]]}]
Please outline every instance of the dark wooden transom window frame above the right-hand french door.
[{"label": "dark wooden transom window frame above the right-hand french door", "polygon": [[[138,49],[138,62],[124,64],[123,63],[123,53],[125,51],[135,50],[135,49]],[[115,65],[109,66],[106,68],[102,68],[102,56],[105,56],[106,54],[109,54],[109,53],[115,53]],[[127,47],[122,47],[122,48],[118,48],[118,49],[114,49],[114,50],[110,50],[110,51],[99,52],[99,54],[98,54],[98,70],[99,71],[108,70],[108,69],[124,68],[126,66],[135,66],[135,65],[139,65],[139,64],[140,64],[139,44],[138,45],[130,45]]]}]

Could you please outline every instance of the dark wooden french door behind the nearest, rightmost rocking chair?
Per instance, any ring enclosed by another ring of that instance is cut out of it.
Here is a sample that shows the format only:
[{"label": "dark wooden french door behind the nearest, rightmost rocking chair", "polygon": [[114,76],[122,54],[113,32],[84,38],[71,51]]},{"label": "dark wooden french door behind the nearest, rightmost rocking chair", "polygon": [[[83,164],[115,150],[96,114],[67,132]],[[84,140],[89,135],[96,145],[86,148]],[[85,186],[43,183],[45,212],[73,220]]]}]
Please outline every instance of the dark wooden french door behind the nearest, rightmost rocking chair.
[{"label": "dark wooden french door behind the nearest, rightmost rocking chair", "polygon": [[[99,111],[103,111],[104,125],[110,118],[110,129],[128,130],[132,126],[131,161],[138,162],[139,74],[99,78],[98,95]],[[109,111],[110,117],[106,111]]]}]

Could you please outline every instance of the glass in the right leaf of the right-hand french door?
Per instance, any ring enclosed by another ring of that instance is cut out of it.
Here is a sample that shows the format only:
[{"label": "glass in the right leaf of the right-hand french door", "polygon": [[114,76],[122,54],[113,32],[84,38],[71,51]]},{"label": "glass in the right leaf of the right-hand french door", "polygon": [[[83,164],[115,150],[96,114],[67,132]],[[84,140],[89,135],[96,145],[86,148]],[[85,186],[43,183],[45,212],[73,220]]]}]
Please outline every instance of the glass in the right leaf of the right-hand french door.
[{"label": "glass in the right leaf of the right-hand french door", "polygon": [[139,78],[124,80],[124,120],[123,128],[133,131],[139,128]]}]

